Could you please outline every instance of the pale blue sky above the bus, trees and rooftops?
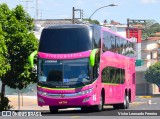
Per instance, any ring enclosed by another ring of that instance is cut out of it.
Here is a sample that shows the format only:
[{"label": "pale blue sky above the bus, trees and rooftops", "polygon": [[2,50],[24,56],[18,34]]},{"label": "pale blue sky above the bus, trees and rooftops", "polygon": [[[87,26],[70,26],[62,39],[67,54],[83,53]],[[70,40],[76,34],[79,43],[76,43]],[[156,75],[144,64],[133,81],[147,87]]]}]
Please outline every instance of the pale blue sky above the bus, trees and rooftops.
[{"label": "pale blue sky above the bus, trees and rooftops", "polygon": [[[28,1],[28,2],[26,2]],[[103,22],[105,19],[127,23],[129,19],[155,20],[160,23],[160,0],[37,0],[39,19],[71,19],[72,8],[83,10],[83,17],[89,18],[98,8],[109,4],[117,4],[114,7],[105,7],[98,10],[91,19]],[[36,0],[0,0],[9,8],[21,4],[31,17],[36,17]],[[75,12],[79,17],[79,12]]]}]

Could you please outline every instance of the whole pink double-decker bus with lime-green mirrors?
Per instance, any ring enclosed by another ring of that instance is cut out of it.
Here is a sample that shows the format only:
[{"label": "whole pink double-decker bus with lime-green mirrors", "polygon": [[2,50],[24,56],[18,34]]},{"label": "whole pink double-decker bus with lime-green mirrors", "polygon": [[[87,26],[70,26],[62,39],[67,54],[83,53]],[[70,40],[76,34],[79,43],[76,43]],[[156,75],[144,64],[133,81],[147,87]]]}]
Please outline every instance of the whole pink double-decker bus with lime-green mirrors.
[{"label": "whole pink double-decker bus with lime-green mirrors", "polygon": [[129,39],[98,25],[44,28],[38,49],[38,105],[49,106],[52,113],[68,107],[129,108],[135,99],[133,47]]}]

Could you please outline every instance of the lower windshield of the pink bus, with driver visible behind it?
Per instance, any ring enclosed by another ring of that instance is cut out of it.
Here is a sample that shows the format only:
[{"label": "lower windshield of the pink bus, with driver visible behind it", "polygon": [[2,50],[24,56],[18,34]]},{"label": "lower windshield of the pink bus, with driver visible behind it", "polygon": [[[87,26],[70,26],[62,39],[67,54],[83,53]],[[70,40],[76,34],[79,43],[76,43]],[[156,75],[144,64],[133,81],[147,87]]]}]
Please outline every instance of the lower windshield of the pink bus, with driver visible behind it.
[{"label": "lower windshield of the pink bus, with driver visible behind it", "polygon": [[89,59],[39,60],[38,79],[47,87],[76,87],[91,83]]}]

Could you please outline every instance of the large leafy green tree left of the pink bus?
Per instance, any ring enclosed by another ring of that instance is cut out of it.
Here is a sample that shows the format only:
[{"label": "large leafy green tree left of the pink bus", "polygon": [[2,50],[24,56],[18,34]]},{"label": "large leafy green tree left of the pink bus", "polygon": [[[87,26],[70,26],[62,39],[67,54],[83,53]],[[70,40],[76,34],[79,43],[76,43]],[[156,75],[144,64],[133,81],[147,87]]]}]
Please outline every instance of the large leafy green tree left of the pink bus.
[{"label": "large leafy green tree left of the pink bus", "polygon": [[36,74],[31,72],[28,56],[37,50],[38,40],[32,32],[33,19],[21,5],[10,10],[6,4],[0,4],[0,24],[5,48],[2,50],[6,52],[3,55],[4,59],[1,56],[1,60],[7,64],[3,74],[0,75],[2,101],[5,95],[5,85],[22,89],[36,80]]}]

